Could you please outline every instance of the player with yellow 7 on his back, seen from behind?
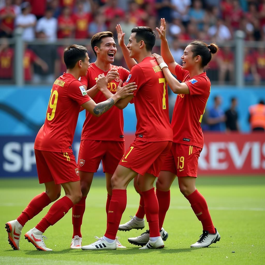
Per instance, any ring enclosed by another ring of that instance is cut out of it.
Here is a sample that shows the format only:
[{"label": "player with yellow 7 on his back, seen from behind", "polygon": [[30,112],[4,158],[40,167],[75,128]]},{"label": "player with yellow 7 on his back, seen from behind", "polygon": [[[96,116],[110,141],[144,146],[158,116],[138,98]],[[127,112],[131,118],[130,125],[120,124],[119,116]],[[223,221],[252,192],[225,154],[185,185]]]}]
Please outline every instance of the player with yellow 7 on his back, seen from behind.
[{"label": "player with yellow 7 on his back, seen from behind", "polygon": [[[108,209],[105,235],[83,250],[116,249],[115,237],[122,213],[126,207],[126,188],[137,174],[138,186],[145,202],[145,213],[150,228],[150,240],[142,249],[163,248],[164,242],[158,228],[158,202],[153,183],[172,144],[172,129],[169,123],[167,84],[162,70],[151,51],[156,36],[149,27],[135,27],[131,30],[127,49],[123,55],[135,58],[135,64],[125,84],[135,82],[134,97],[121,100],[123,106],[134,101],[137,117],[135,140],[122,157],[115,170],[112,183],[112,197]],[[133,101],[132,101],[133,100]]]}]

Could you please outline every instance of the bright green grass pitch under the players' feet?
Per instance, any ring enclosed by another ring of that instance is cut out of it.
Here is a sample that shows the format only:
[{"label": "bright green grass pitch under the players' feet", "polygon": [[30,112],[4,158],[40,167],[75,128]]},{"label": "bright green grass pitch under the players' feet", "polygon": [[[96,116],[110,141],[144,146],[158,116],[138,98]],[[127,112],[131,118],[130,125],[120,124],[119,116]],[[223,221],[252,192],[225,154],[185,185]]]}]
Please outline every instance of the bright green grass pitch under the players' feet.
[{"label": "bright green grass pitch under the players' feet", "polygon": [[[169,233],[165,248],[138,250],[127,242],[128,237],[144,230],[118,232],[127,249],[82,251],[70,250],[72,239],[71,211],[45,232],[46,244],[52,252],[37,251],[23,237],[20,251],[11,249],[7,242],[5,223],[15,219],[30,199],[43,191],[37,179],[0,180],[0,264],[265,264],[265,177],[198,178],[198,190],[205,196],[221,240],[209,248],[191,249],[201,235],[201,223],[195,217],[188,201],[180,194],[177,183],[171,188],[171,204],[164,228]],[[62,191],[63,193],[63,191]],[[83,219],[83,244],[103,236],[106,228],[106,191],[104,178],[94,179],[86,200]],[[139,195],[130,184],[127,208],[122,223],[134,215]],[[46,214],[45,208],[24,227],[24,235]],[[147,225],[146,225],[147,228]],[[235,253],[232,253],[235,251]]]}]

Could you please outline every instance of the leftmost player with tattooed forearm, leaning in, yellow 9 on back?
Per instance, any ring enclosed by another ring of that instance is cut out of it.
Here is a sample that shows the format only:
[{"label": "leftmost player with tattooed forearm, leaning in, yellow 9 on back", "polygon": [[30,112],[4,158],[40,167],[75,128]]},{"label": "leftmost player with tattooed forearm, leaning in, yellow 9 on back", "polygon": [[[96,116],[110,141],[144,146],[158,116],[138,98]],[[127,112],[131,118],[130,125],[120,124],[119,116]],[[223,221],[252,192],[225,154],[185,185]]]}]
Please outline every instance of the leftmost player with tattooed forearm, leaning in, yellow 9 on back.
[{"label": "leftmost player with tattooed forearm, leaning in, yellow 9 on back", "polygon": [[[64,61],[67,72],[56,79],[52,86],[45,123],[34,144],[39,183],[45,184],[46,191],[34,197],[16,220],[6,223],[8,241],[14,250],[19,250],[21,230],[25,223],[57,200],[63,186],[65,196],[56,201],[37,226],[25,234],[25,238],[38,250],[52,251],[46,247],[43,241],[46,237],[42,234],[64,217],[82,197],[78,167],[72,151],[80,105],[93,115],[100,116],[135,90],[134,86],[132,89],[130,85],[126,86],[127,90],[119,86],[115,95],[96,104],[78,81],[80,76],[85,76],[89,67],[86,47],[70,45],[65,49]],[[104,76],[97,82],[107,87]]]}]

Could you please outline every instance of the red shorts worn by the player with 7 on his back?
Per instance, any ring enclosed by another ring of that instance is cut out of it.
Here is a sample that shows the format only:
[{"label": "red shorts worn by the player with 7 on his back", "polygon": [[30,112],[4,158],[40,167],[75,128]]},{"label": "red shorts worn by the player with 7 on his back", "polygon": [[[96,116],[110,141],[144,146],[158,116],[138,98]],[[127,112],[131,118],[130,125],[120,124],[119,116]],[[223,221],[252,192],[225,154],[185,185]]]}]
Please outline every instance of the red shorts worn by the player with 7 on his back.
[{"label": "red shorts worn by the player with 7 on his back", "polygon": [[158,177],[172,142],[143,142],[134,140],[125,152],[120,165],[128,167],[138,174],[149,173]]}]

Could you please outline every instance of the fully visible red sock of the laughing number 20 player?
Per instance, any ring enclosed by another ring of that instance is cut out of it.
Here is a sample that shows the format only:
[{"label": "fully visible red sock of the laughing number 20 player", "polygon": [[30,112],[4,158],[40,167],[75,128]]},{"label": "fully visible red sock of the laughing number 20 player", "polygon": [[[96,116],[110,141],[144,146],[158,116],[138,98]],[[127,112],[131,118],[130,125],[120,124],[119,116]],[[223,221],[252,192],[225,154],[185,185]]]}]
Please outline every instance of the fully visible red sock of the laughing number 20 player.
[{"label": "fully visible red sock of the laughing number 20 player", "polygon": [[82,237],[81,225],[85,209],[86,209],[86,196],[82,197],[80,202],[75,204],[72,208],[73,238],[74,236]]}]

